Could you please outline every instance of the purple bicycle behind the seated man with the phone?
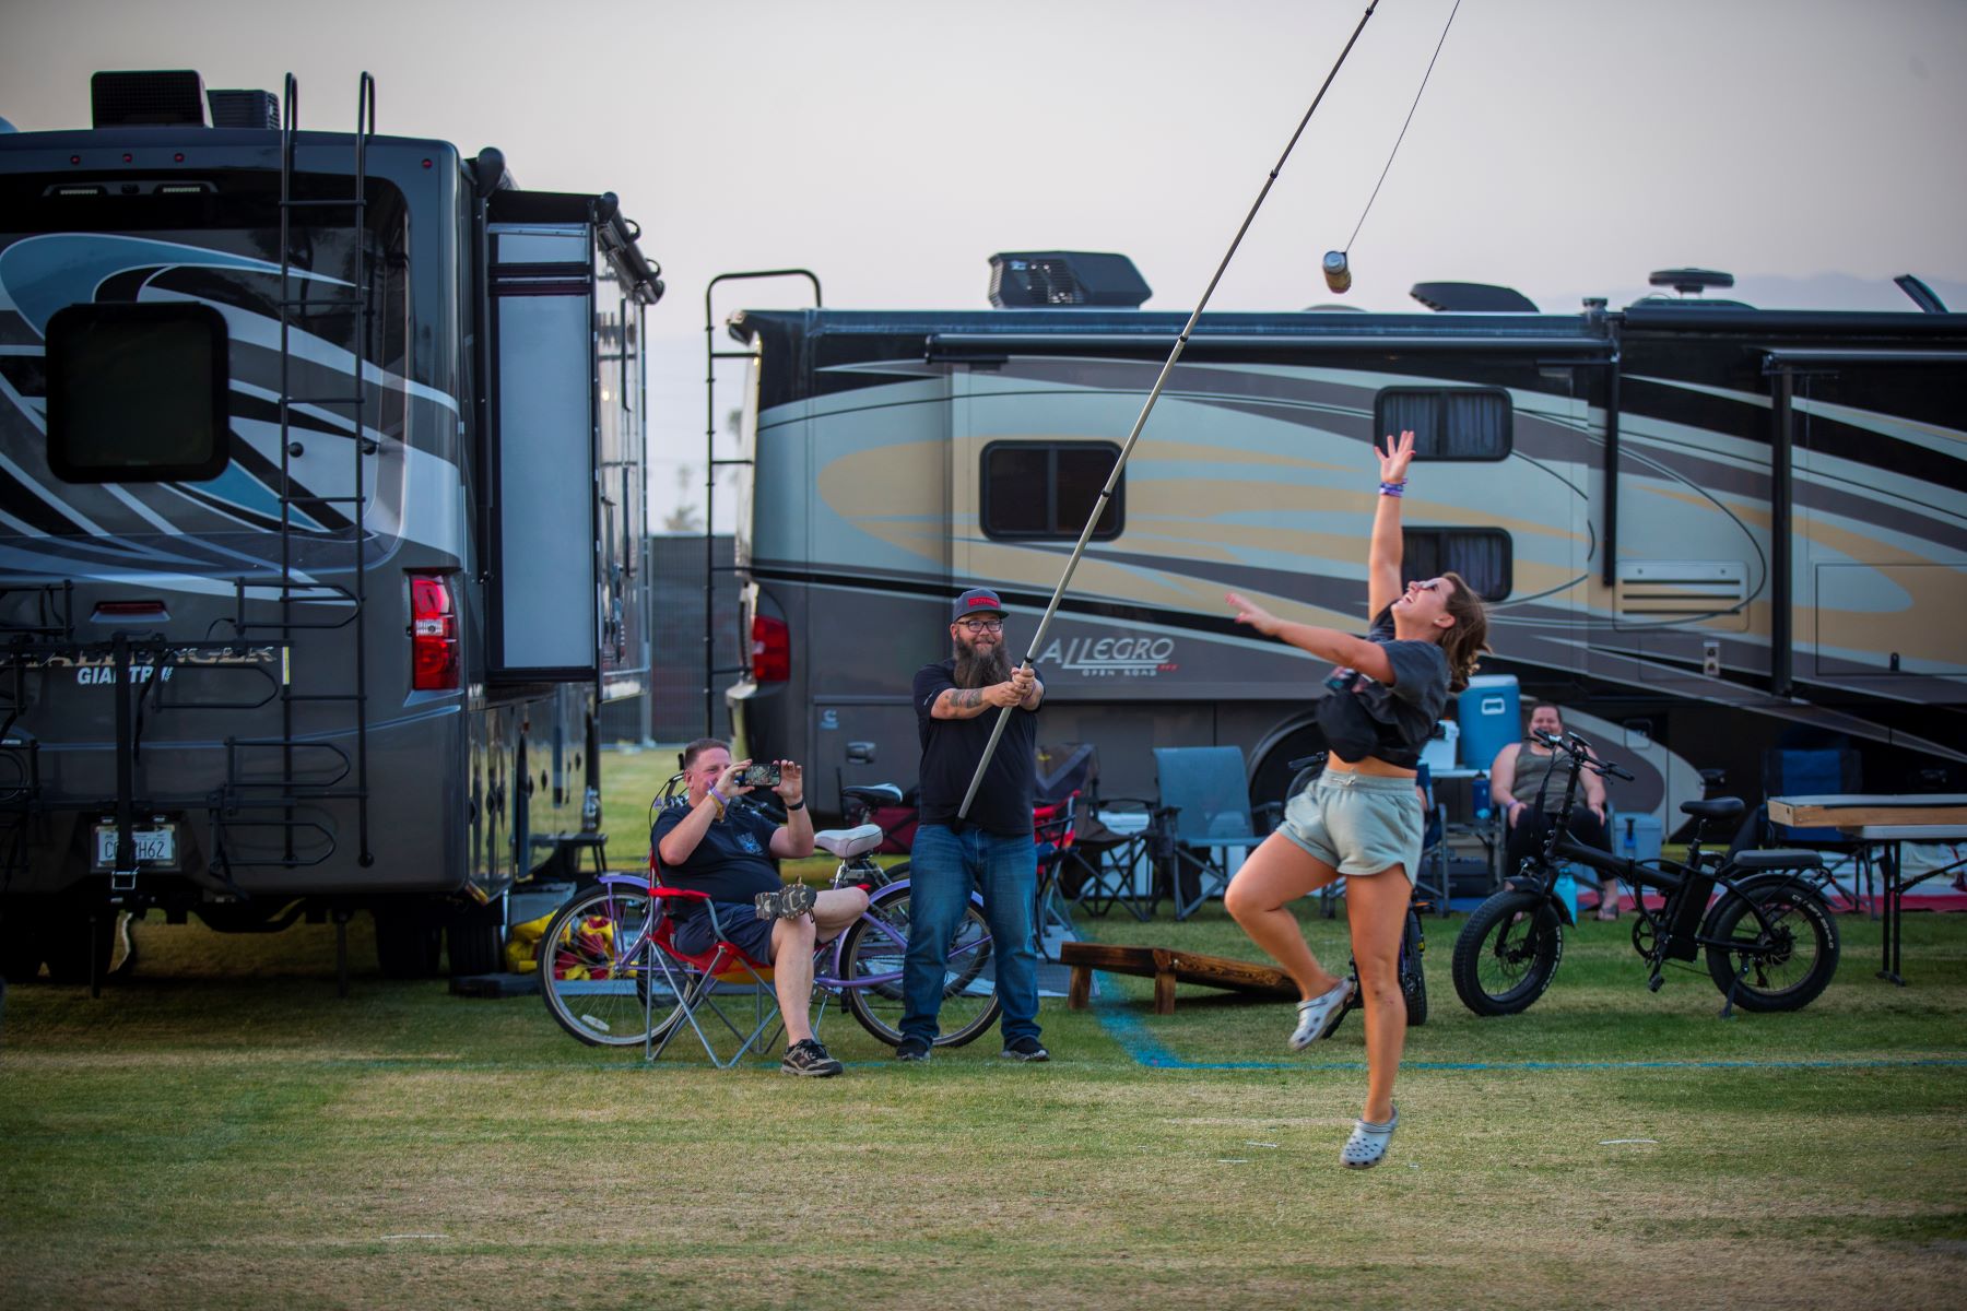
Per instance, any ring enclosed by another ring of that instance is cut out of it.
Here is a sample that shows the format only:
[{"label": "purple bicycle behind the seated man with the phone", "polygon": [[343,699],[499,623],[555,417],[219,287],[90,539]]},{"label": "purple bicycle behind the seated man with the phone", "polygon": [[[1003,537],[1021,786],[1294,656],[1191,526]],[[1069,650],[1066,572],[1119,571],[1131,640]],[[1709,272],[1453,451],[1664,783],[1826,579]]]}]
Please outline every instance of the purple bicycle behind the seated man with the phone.
[{"label": "purple bicycle behind the seated man with the phone", "polygon": [[[653,806],[651,806],[653,808]],[[814,989],[887,1046],[901,1042],[901,971],[909,949],[909,881],[881,869],[871,853],[877,826],[816,833],[836,855],[832,886],[862,886],[869,904],[838,938],[814,951]],[[704,981],[673,955],[657,959],[667,941],[669,910],[657,896],[655,861],[649,875],[604,875],[574,892],[547,922],[539,943],[541,995],[555,1024],[600,1048],[667,1044],[688,1020],[685,997],[720,985]],[[706,906],[716,916],[716,910]],[[716,920],[712,920],[714,924]],[[667,969],[665,969],[667,963]],[[681,975],[681,983],[673,983]],[[940,1048],[960,1048],[987,1030],[999,1012],[991,940],[984,898],[970,906],[950,943],[942,985]]]}]

